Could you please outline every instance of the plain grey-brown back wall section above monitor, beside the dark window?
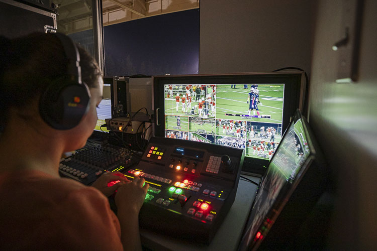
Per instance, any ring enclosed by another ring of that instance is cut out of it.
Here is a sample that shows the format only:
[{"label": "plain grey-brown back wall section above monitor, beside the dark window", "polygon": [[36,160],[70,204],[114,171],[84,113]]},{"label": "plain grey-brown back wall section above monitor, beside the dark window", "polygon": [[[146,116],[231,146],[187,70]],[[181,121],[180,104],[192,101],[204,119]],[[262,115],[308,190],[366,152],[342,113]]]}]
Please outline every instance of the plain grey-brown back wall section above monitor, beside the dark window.
[{"label": "plain grey-brown back wall section above monitor, beside the dark window", "polygon": [[315,1],[200,2],[199,73],[310,72]]}]

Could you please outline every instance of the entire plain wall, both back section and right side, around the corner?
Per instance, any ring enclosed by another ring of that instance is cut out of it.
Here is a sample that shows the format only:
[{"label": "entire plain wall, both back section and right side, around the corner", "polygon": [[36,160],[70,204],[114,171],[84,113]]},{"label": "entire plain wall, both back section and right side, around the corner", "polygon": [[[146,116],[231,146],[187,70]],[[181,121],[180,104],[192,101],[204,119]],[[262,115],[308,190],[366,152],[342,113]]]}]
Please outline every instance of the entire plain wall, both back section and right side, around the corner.
[{"label": "entire plain wall, both back section and right side, around the corner", "polygon": [[309,122],[337,180],[332,249],[377,240],[377,1],[364,0],[356,83],[336,84],[339,1],[201,1],[199,72],[309,72]]}]

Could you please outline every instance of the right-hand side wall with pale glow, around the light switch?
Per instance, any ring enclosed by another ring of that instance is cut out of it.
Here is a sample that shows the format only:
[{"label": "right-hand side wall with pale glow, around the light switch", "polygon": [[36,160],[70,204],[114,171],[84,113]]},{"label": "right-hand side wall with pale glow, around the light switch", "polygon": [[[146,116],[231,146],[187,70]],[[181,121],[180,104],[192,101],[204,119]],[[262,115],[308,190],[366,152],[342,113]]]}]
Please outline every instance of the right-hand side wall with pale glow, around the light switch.
[{"label": "right-hand side wall with pale glow, around the light switch", "polygon": [[331,249],[372,250],[377,244],[377,1],[363,1],[358,81],[338,84],[339,62],[331,48],[344,36],[344,2],[318,4],[309,122],[338,181]]}]

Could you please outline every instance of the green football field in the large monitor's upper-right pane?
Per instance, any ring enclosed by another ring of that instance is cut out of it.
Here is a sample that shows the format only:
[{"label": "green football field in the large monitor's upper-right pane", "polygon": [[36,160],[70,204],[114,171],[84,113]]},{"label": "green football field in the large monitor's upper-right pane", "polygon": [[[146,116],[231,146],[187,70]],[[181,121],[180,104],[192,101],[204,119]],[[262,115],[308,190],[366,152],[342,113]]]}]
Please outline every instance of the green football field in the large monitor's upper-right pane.
[{"label": "green football field in the large monitor's upper-right pane", "polygon": [[[281,123],[284,84],[258,84],[259,101],[258,104],[260,115],[271,115],[271,118],[254,118],[244,119],[241,116],[229,116],[232,114],[248,114],[249,104],[246,102],[251,85],[243,89],[243,84],[237,84],[237,89],[231,89],[231,85],[216,86],[216,118],[221,119],[239,119],[257,122]],[[250,113],[253,114],[253,111]],[[257,113],[255,112],[257,115]],[[242,118],[242,119],[241,119]]]}]

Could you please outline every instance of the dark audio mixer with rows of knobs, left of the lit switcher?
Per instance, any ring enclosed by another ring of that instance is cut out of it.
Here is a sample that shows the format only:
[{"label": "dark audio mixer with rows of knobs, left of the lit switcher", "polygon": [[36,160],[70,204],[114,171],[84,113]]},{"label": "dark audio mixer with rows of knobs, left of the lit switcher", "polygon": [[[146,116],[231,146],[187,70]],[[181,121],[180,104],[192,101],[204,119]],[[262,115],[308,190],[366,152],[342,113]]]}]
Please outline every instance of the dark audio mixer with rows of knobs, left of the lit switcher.
[{"label": "dark audio mixer with rows of knobs, left of the lit switcher", "polygon": [[84,148],[71,157],[61,159],[59,173],[90,185],[104,172],[125,171],[136,163],[133,153],[128,149],[98,145]]}]

